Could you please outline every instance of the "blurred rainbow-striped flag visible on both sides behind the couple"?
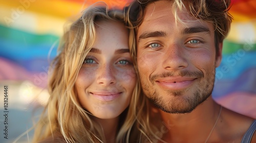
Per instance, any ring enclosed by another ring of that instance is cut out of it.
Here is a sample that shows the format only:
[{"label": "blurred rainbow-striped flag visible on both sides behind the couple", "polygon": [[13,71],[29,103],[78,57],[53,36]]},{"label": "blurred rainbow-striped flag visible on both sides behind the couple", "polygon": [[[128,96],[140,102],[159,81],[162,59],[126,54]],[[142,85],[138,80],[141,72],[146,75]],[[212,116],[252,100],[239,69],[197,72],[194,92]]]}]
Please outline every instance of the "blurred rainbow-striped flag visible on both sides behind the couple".
[{"label": "blurred rainbow-striped flag visible on both sides behind the couple", "polygon": [[[45,87],[47,78],[44,77],[40,84],[36,80],[47,73],[50,61],[56,56],[63,27],[95,2],[0,0],[0,80],[29,80],[36,86]],[[110,7],[121,8],[131,0],[104,2]],[[234,20],[223,44],[223,60],[216,70],[213,96],[228,108],[256,117],[251,110],[246,110],[250,105],[238,109],[226,100],[232,97],[230,101],[239,103],[244,97],[250,101],[256,98],[256,3],[254,0],[233,0],[230,14]],[[256,107],[253,109],[255,111]]]}]

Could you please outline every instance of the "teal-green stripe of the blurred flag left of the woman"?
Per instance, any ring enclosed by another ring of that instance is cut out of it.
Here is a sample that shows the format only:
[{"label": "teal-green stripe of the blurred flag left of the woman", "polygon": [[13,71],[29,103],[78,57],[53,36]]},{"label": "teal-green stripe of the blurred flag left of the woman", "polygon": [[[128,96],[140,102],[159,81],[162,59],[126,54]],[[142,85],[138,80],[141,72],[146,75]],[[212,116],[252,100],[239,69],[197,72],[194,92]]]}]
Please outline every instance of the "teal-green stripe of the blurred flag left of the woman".
[{"label": "teal-green stripe of the blurred flag left of the woman", "polygon": [[27,44],[38,44],[38,43],[52,43],[59,40],[59,36],[53,34],[32,34],[25,31],[8,28],[0,25],[0,38],[3,40],[10,40],[15,43],[27,43]]}]

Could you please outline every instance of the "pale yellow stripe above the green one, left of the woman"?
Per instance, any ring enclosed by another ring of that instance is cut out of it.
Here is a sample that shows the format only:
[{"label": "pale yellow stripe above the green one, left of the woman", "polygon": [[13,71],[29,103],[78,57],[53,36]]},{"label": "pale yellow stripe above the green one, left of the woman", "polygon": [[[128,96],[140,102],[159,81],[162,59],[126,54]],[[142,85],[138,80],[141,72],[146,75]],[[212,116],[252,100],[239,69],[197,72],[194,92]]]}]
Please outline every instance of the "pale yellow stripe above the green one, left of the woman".
[{"label": "pale yellow stripe above the green one, left of the woman", "polygon": [[61,36],[63,34],[63,26],[67,22],[67,19],[30,11],[15,15],[10,8],[2,6],[0,6],[0,13],[4,15],[0,16],[1,25],[35,34],[51,33]]}]

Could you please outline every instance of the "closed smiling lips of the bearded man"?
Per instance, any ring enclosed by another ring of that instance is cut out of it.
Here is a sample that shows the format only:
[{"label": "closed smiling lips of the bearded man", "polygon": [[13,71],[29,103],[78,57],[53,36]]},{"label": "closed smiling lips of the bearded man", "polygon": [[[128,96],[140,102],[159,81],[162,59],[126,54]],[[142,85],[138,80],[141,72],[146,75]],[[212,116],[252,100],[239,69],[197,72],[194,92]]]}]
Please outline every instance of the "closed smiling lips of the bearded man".
[{"label": "closed smiling lips of the bearded man", "polygon": [[156,80],[156,83],[168,90],[181,90],[191,86],[196,79],[190,77],[166,77]]}]

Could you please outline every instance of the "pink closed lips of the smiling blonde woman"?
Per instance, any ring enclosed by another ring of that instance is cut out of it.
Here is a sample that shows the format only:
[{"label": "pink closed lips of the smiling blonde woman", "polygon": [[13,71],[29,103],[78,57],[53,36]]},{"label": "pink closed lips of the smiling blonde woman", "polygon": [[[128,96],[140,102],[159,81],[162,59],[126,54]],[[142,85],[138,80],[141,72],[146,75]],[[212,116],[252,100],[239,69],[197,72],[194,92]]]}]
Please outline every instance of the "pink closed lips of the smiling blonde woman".
[{"label": "pink closed lips of the smiling blonde woman", "polygon": [[95,91],[90,94],[101,101],[113,101],[121,95],[122,92],[106,92],[106,91]]}]

